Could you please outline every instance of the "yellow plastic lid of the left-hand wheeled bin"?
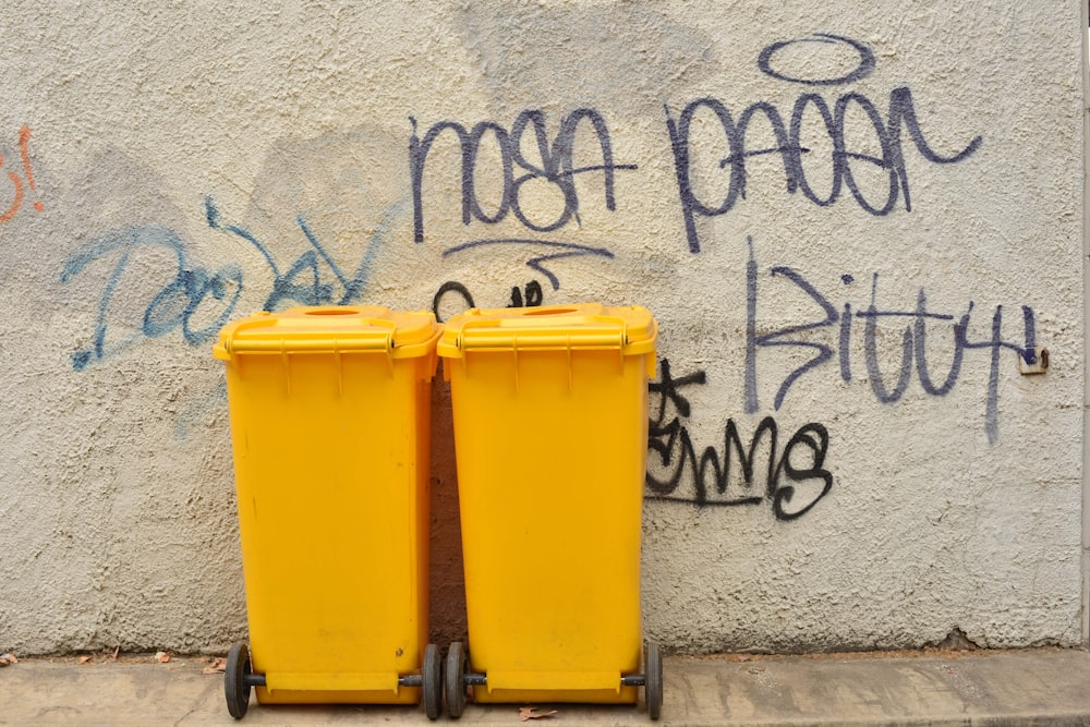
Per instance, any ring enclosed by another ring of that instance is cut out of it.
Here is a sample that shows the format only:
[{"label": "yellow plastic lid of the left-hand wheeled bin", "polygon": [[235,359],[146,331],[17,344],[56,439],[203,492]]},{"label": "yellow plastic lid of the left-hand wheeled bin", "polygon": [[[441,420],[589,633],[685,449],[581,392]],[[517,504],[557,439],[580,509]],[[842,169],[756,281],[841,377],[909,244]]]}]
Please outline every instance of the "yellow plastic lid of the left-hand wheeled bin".
[{"label": "yellow plastic lid of the left-hand wheeled bin", "polygon": [[314,305],[263,311],[226,325],[213,355],[238,353],[375,351],[395,358],[427,353],[439,326],[429,312],[396,312],[379,305]]}]

